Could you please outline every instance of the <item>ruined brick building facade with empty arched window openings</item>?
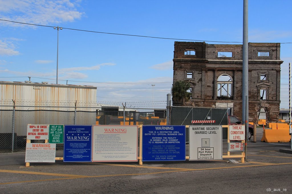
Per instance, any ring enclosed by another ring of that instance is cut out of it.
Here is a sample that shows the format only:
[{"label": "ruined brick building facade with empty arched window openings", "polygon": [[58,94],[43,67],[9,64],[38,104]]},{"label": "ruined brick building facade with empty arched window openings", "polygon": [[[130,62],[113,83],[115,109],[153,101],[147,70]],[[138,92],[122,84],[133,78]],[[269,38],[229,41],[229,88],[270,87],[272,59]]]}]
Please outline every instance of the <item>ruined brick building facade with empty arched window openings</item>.
[{"label": "ruined brick building facade with empty arched window openings", "polygon": [[[173,83],[190,83],[194,107],[224,107],[242,119],[242,45],[175,42]],[[280,43],[248,43],[249,121],[276,122],[280,107]],[[178,105],[173,103],[173,105]],[[260,118],[261,119],[261,118]]]}]

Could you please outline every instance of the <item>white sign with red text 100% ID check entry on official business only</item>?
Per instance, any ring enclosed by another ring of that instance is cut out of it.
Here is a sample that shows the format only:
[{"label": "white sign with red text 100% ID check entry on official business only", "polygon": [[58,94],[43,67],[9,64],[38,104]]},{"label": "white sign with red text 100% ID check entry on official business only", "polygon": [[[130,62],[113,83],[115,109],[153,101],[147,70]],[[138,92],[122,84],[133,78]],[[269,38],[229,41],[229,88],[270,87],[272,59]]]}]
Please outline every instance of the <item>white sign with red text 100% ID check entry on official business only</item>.
[{"label": "white sign with red text 100% ID check entry on official business only", "polygon": [[49,137],[49,125],[27,125],[28,140],[47,140]]}]

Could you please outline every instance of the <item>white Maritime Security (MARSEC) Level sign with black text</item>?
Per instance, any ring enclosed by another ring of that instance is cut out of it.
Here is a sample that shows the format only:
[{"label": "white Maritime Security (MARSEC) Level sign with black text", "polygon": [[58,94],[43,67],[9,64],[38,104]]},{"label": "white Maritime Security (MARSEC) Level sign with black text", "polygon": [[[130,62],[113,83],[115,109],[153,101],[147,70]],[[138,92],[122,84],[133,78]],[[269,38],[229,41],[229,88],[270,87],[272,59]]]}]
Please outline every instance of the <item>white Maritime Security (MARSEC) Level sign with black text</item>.
[{"label": "white Maritime Security (MARSEC) Level sign with black text", "polygon": [[222,126],[190,126],[189,160],[222,160]]}]

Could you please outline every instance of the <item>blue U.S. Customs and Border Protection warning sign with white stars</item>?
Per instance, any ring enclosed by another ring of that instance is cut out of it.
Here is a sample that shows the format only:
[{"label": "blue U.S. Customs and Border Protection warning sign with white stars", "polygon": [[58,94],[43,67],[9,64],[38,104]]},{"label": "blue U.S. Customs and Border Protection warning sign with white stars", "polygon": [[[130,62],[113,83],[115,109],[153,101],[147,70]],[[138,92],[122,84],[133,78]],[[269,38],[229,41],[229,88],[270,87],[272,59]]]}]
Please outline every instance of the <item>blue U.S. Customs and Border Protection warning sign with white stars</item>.
[{"label": "blue U.S. Customs and Border Protection warning sign with white stars", "polygon": [[92,125],[64,126],[64,162],[91,162]]}]

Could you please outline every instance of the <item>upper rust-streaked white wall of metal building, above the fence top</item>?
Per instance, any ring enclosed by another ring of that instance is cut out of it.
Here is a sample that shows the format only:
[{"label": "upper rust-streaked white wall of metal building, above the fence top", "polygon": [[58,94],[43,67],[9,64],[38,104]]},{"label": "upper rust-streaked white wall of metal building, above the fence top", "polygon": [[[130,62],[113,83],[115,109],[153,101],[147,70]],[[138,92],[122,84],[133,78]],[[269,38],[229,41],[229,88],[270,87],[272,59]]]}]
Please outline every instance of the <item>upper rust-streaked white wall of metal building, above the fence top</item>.
[{"label": "upper rust-streaked white wall of metal building, above the fence top", "polygon": [[[96,102],[96,87],[23,82],[0,82],[0,99],[20,100],[18,105],[60,106],[68,101]],[[12,101],[11,100],[11,101]],[[30,104],[28,104],[28,100]],[[1,105],[7,105],[0,101]],[[46,102],[46,105],[43,105]],[[41,104],[42,103],[42,104]],[[50,104],[48,104],[50,103]]]}]

